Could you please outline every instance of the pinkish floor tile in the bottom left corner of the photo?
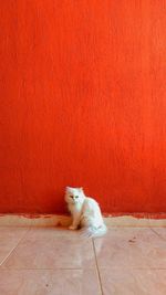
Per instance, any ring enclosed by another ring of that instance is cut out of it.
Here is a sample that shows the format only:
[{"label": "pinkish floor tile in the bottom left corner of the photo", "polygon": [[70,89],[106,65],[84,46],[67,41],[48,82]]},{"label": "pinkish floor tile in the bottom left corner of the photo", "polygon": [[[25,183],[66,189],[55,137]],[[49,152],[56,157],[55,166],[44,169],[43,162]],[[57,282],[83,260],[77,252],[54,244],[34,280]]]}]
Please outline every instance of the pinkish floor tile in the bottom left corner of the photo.
[{"label": "pinkish floor tile in the bottom left corner of the photo", "polygon": [[1,270],[2,295],[100,295],[94,270]]}]

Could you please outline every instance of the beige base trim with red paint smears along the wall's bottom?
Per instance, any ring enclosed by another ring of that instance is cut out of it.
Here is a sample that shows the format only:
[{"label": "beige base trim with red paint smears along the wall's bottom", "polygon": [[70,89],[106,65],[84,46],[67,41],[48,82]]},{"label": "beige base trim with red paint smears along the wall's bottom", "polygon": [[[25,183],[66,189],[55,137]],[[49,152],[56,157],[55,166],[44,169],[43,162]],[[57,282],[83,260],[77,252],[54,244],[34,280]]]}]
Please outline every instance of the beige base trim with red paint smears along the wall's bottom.
[{"label": "beige base trim with red paint smears along the wall's bottom", "polygon": [[[153,218],[141,218],[137,214],[127,215],[107,215],[104,221],[108,228],[115,226],[137,226],[137,228],[157,228],[166,226],[166,214],[153,214]],[[0,226],[69,226],[71,218],[56,214],[1,214]]]}]

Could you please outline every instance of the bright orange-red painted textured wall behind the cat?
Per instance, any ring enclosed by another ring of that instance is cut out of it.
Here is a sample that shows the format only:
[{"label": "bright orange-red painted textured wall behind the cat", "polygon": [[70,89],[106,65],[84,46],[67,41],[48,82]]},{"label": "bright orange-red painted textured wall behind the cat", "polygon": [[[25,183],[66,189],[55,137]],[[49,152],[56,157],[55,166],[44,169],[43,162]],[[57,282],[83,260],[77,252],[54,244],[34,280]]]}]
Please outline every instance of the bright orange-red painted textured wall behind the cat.
[{"label": "bright orange-red painted textured wall behind the cat", "polygon": [[166,1],[0,1],[0,212],[166,212]]}]

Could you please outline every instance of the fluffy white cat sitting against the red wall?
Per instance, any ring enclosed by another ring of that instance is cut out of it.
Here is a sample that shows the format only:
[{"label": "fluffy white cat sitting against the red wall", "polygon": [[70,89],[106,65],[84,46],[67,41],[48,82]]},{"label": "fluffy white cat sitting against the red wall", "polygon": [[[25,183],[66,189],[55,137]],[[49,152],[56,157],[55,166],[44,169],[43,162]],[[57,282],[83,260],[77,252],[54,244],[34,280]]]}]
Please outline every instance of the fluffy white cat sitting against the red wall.
[{"label": "fluffy white cat sitting against the red wall", "polygon": [[106,233],[98,203],[86,197],[82,188],[66,187],[65,201],[73,218],[70,230],[81,226],[86,236],[101,236]]}]

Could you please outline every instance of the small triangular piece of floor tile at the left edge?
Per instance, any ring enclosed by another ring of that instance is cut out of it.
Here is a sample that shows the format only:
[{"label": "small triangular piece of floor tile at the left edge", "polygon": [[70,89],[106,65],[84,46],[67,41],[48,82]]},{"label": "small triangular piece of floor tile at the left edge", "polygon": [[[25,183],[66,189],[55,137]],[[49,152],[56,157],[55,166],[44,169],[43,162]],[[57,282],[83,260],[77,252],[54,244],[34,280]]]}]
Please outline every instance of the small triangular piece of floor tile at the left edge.
[{"label": "small triangular piece of floor tile at the left edge", "polygon": [[0,265],[8,257],[10,252],[18,245],[28,228],[0,226]]}]

